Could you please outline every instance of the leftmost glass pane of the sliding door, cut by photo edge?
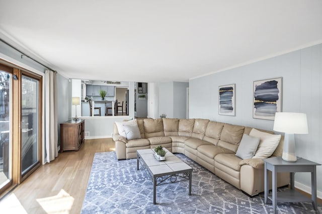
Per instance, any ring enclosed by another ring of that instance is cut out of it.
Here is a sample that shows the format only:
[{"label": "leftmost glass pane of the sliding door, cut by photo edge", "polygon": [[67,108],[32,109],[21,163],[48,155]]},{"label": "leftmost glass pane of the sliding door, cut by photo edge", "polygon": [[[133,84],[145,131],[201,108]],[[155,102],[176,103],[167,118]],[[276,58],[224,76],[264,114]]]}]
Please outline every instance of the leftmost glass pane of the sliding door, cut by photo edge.
[{"label": "leftmost glass pane of the sliding door, cut by photo edge", "polygon": [[12,179],[11,173],[11,91],[12,75],[0,70],[0,189]]}]

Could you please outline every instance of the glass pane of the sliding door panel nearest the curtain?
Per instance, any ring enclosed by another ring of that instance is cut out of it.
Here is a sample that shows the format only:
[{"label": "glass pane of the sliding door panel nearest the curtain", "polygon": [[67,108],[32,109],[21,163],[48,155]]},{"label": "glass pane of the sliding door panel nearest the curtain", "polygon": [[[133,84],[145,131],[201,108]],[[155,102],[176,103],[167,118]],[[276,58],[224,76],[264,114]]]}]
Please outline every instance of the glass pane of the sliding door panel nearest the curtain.
[{"label": "glass pane of the sliding door panel nearest the curtain", "polygon": [[21,82],[22,175],[39,162],[39,81],[22,76]]}]

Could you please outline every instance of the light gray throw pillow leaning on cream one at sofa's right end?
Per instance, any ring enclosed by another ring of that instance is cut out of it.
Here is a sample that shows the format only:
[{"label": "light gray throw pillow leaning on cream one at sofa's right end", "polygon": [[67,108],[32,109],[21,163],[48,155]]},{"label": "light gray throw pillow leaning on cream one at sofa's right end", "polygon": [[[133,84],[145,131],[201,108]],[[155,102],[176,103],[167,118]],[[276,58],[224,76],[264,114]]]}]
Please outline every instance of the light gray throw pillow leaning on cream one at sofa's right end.
[{"label": "light gray throw pillow leaning on cream one at sofa's right end", "polygon": [[259,137],[252,137],[247,134],[243,134],[243,138],[241,138],[240,144],[236,151],[236,156],[240,157],[241,159],[254,157],[259,143]]}]

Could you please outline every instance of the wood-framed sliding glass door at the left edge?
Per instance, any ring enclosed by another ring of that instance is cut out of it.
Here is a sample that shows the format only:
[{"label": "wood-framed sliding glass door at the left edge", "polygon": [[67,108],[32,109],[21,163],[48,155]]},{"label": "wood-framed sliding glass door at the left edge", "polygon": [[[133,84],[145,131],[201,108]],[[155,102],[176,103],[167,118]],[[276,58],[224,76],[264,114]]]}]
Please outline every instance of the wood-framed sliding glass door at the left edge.
[{"label": "wood-framed sliding glass door at the left edge", "polygon": [[41,165],[41,86],[42,76],[0,63],[0,194]]}]

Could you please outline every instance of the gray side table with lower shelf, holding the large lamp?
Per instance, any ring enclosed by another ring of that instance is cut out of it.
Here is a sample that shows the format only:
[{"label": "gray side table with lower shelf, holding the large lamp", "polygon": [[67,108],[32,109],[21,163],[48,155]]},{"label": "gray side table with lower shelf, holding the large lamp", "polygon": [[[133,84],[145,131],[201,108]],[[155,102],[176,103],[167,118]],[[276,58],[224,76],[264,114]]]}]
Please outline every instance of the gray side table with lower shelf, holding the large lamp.
[{"label": "gray side table with lower shelf, holding the large lamp", "polygon": [[[317,209],[316,203],[316,166],[321,165],[304,158],[298,157],[296,162],[288,162],[282,157],[270,157],[263,159],[265,162],[264,170],[264,202],[267,203],[267,198],[272,200],[274,213],[276,211],[277,201],[281,202],[300,202],[311,201],[313,208]],[[268,170],[272,171],[272,195],[269,195]],[[277,172],[290,172],[290,189],[288,191],[277,193]],[[294,175],[295,172],[311,172],[311,199],[294,190]]]}]

